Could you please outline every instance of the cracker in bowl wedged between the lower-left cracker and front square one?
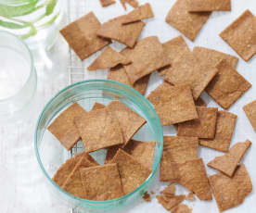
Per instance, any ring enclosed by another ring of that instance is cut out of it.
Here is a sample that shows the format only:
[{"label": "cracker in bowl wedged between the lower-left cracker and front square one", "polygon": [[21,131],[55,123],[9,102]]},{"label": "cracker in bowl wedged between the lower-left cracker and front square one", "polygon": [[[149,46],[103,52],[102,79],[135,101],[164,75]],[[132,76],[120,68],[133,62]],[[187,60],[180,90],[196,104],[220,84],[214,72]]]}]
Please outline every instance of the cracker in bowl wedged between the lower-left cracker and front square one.
[{"label": "cracker in bowl wedged between the lower-left cracker and front square one", "polygon": [[92,163],[86,156],[83,156],[80,161],[75,165],[74,169],[70,172],[66,182],[62,185],[62,188],[75,196],[85,199],[86,192],[83,189],[82,179],[80,175],[80,169],[97,166],[97,163]]}]

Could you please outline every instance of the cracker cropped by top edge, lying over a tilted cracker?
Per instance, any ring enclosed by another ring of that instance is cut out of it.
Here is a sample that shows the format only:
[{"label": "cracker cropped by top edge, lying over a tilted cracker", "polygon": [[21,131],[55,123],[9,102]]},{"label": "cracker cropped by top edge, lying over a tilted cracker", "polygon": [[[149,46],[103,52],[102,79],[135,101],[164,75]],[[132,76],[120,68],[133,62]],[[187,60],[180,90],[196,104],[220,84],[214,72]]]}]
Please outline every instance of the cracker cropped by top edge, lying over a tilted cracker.
[{"label": "cracker cropped by top edge, lying over a tilted cracker", "polygon": [[231,0],[188,0],[189,12],[231,11]]}]

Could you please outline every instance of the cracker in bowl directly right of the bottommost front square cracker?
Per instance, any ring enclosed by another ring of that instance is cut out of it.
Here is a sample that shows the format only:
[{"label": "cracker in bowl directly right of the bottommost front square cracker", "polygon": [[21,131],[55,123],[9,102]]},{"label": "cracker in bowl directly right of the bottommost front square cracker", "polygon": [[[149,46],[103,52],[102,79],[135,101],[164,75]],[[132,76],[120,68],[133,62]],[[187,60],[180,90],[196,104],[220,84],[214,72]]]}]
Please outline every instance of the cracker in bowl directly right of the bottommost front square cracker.
[{"label": "cracker in bowl directly right of the bottommost front square cracker", "polygon": [[118,165],[124,194],[132,193],[147,180],[151,173],[147,167],[122,149],[119,149],[110,163],[117,163]]}]

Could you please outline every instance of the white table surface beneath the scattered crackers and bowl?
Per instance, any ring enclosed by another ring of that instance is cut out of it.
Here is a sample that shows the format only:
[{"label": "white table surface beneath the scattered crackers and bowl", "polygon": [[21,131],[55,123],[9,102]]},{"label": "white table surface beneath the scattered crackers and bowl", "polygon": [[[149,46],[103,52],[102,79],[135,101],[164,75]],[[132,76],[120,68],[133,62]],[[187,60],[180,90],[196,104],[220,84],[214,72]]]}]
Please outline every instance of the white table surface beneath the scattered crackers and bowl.
[{"label": "white table surface beneath the scattered crackers and bowl", "polygon": [[[118,0],[117,0],[118,1]],[[150,2],[155,11],[155,19],[147,21],[147,26],[141,37],[149,35],[157,35],[161,42],[166,42],[180,33],[164,22],[166,14],[174,0],[139,0],[141,4]],[[231,49],[219,37],[219,33],[224,30],[233,20],[242,14],[247,8],[256,15],[255,0],[232,0],[232,12],[214,12],[211,19],[200,31],[197,40],[191,43],[186,39],[187,44],[193,49],[196,45],[214,48],[224,53],[237,56],[235,51]],[[97,0],[79,0],[69,1],[68,21],[77,19],[89,11],[93,10],[101,22],[110,18],[122,15],[124,13],[119,1],[116,5],[102,8]],[[131,8],[129,7],[129,10]],[[69,15],[70,14],[70,15]],[[111,44],[117,50],[121,50],[122,44]],[[106,78],[107,71],[96,71],[88,73],[86,68],[100,53],[83,61],[83,63],[69,51],[66,42],[60,37],[55,47],[47,53],[48,59],[46,65],[44,63],[37,64],[38,73],[38,90],[36,98],[32,104],[30,116],[23,119],[19,123],[12,123],[0,126],[0,212],[2,213],[66,213],[70,212],[70,208],[64,207],[52,194],[49,194],[45,187],[45,178],[38,168],[37,161],[33,151],[33,133],[35,123],[40,111],[43,109],[47,101],[57,94],[71,82],[82,81],[83,79]],[[50,58],[50,59],[49,59]],[[230,108],[230,112],[237,114],[237,127],[232,140],[232,144],[244,142],[246,139],[252,141],[252,147],[248,155],[244,157],[245,163],[250,173],[252,183],[256,184],[256,133],[253,132],[249,120],[246,118],[242,107],[250,101],[256,99],[256,57],[250,62],[245,62],[241,58],[239,60],[237,70],[253,84],[250,91],[240,98],[236,105]],[[70,79],[71,72],[71,79]],[[154,73],[150,79],[147,94],[156,88],[162,78]],[[207,94],[203,94],[203,98],[209,103],[209,107],[218,107]],[[175,134],[173,127],[165,127],[164,134]],[[222,153],[207,148],[200,148],[199,157],[205,159],[205,163],[213,157],[223,155]],[[213,169],[207,168],[208,174],[213,174]],[[153,187],[155,192],[159,192],[165,183],[156,182]],[[178,193],[187,193],[187,191],[178,187]],[[193,212],[218,212],[215,201],[193,203],[187,202],[189,207],[193,207]],[[256,209],[254,191],[246,198],[244,204],[227,212],[238,213],[247,212],[254,213]],[[153,196],[151,203],[141,202],[131,208],[129,212],[148,213],[148,212],[167,212],[163,209]]]}]

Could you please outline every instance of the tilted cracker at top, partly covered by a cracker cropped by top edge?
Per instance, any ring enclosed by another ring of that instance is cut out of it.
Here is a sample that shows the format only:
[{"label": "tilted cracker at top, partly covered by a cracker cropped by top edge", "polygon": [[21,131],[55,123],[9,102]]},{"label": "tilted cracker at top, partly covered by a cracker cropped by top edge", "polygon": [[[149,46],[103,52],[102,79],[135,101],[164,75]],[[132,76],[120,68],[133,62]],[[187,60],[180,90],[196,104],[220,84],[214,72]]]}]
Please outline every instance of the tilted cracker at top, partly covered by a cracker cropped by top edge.
[{"label": "tilted cracker at top, partly covered by a cracker cropped by top edge", "polygon": [[210,16],[211,12],[189,13],[187,0],[177,0],[165,21],[183,33],[186,38],[195,41],[198,32]]}]

